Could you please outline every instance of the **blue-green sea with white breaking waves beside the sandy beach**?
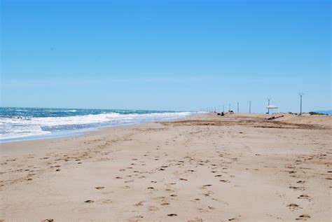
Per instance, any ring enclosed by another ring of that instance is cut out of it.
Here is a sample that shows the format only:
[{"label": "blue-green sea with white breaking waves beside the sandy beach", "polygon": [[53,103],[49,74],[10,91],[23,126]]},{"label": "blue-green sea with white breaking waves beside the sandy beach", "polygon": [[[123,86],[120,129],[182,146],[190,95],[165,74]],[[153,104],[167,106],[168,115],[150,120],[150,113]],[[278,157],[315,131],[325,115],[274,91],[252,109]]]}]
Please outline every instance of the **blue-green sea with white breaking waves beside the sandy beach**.
[{"label": "blue-green sea with white breaking waves beside the sandy beach", "polygon": [[0,141],[67,137],[99,127],[190,116],[191,112],[0,107]]}]

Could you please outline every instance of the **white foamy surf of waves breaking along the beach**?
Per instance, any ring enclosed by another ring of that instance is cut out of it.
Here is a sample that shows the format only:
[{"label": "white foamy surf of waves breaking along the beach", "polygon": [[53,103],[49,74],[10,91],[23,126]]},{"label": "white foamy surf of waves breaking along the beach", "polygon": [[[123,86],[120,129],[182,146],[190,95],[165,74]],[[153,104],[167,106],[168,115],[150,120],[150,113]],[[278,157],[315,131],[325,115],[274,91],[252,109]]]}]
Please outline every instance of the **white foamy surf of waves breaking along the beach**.
[{"label": "white foamy surf of waves breaking along the beach", "polygon": [[[74,111],[74,110],[73,110]],[[178,113],[146,113],[120,114],[101,113],[85,116],[43,117],[43,118],[0,118],[0,139],[28,137],[50,134],[53,130],[66,130],[68,127],[82,127],[82,125],[102,126],[141,123],[155,120],[170,120],[191,115],[190,112]],[[48,130],[45,130],[48,129]]]}]

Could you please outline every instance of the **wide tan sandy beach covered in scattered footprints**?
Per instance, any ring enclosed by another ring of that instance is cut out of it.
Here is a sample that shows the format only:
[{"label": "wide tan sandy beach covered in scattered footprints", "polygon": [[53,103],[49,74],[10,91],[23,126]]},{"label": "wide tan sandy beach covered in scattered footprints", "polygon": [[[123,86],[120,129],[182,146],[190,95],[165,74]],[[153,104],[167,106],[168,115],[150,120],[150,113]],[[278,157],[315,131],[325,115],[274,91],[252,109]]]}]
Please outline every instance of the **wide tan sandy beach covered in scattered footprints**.
[{"label": "wide tan sandy beach covered in scattered footprints", "polygon": [[0,219],[330,221],[332,117],[265,117],[3,143]]}]

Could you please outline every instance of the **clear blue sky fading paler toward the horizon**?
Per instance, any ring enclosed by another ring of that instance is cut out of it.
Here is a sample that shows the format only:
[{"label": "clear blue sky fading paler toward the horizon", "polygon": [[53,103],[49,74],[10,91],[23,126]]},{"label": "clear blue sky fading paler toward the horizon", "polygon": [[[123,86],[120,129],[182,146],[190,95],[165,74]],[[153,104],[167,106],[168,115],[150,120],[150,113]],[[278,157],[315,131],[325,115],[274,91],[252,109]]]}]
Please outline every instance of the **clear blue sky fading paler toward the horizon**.
[{"label": "clear blue sky fading paler toward the horizon", "polygon": [[331,109],[331,1],[1,0],[1,106]]}]

